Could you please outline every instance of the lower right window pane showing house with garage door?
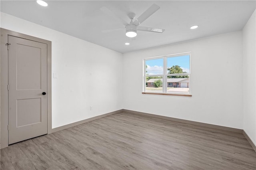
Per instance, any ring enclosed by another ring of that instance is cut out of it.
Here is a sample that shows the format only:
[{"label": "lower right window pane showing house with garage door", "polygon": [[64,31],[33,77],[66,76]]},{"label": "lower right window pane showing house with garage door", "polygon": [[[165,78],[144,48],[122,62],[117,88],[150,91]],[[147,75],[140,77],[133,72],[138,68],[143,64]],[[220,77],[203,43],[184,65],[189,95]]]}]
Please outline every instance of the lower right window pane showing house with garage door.
[{"label": "lower right window pane showing house with garage door", "polygon": [[183,75],[182,78],[167,78],[167,93],[189,94],[189,87],[190,78],[188,75]]}]

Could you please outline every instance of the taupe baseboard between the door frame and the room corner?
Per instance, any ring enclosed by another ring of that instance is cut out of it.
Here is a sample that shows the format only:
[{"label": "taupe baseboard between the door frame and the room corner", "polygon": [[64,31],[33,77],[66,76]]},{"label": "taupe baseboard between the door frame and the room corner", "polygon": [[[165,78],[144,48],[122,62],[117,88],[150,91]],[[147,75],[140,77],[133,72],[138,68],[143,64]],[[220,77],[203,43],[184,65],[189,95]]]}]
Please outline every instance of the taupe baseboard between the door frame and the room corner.
[{"label": "taupe baseboard between the door frame and the room corner", "polygon": [[123,111],[123,109],[118,110],[118,111],[113,111],[113,112],[110,112],[110,113],[106,113],[106,114],[103,114],[103,115],[99,115],[99,116],[96,116],[96,117],[91,117],[91,118],[89,118],[89,119],[84,119],[84,120],[82,120],[82,121],[70,123],[70,124],[68,124],[68,125],[64,125],[64,126],[61,126],[61,127],[56,127],[56,128],[53,128],[53,129],[52,129],[52,133],[53,133],[53,132],[57,132],[57,131],[59,131],[59,130],[63,130],[63,129],[65,129],[65,128],[74,127],[74,126],[80,125],[80,124],[82,124],[82,123],[86,123],[86,122],[89,122],[89,121],[93,121],[93,120],[96,120],[96,119],[100,119],[100,118],[102,118],[102,117],[106,117],[106,116],[109,116],[109,115],[113,115],[113,114],[119,113],[119,112],[121,112],[121,111]]}]

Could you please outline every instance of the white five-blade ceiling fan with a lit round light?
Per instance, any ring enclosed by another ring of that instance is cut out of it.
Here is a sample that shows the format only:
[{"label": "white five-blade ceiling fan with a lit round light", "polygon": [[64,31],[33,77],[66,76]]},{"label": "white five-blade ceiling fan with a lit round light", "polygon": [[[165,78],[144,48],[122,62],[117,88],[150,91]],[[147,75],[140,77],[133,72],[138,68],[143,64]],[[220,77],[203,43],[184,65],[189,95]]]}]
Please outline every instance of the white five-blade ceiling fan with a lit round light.
[{"label": "white five-blade ceiling fan with a lit round light", "polygon": [[[128,17],[130,18],[131,22],[127,23],[126,21],[122,20],[118,16],[116,16],[112,11],[110,11],[106,7],[100,8],[100,10],[109,16],[112,16],[115,20],[121,22],[124,24],[125,29],[126,29],[126,36],[133,38],[137,36],[137,31],[148,31],[148,32],[158,32],[158,33],[163,33],[164,29],[160,28],[150,28],[150,27],[142,27],[139,26],[142,22],[144,22],[148,17],[150,17],[152,14],[154,14],[160,7],[156,4],[153,4],[148,8],[144,13],[142,13],[136,20],[134,20],[134,17],[136,16],[134,13],[128,14]],[[120,28],[118,28],[120,29]],[[121,28],[123,29],[123,28]],[[112,29],[112,30],[117,30],[117,29]],[[105,32],[109,32],[112,30],[105,30]],[[104,31],[103,31],[104,32]]]}]

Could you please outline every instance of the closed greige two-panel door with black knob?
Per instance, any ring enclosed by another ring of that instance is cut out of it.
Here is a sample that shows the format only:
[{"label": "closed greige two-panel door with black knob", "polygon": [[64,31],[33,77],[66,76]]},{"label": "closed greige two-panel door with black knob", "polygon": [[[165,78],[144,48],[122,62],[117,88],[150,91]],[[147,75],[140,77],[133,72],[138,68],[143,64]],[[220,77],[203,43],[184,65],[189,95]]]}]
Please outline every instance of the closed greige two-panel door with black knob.
[{"label": "closed greige two-panel door with black knob", "polygon": [[8,144],[47,134],[47,44],[8,36]]}]

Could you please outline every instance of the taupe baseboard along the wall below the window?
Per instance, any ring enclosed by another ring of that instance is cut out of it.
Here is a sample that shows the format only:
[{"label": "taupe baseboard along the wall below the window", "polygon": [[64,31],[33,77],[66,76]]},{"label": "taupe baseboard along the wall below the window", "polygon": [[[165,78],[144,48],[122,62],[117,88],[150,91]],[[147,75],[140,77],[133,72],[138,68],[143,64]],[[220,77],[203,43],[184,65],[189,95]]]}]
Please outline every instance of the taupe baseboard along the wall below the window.
[{"label": "taupe baseboard along the wall below the window", "polygon": [[138,114],[138,115],[145,115],[145,116],[156,117],[156,118],[160,118],[160,119],[180,122],[180,123],[188,123],[188,124],[198,125],[198,126],[202,126],[202,127],[216,128],[216,129],[220,129],[220,130],[227,130],[227,131],[231,131],[231,132],[243,133],[243,130],[242,129],[238,129],[238,128],[223,127],[223,126],[219,126],[219,125],[212,125],[212,124],[208,124],[208,123],[188,121],[188,120],[184,120],[184,119],[178,119],[178,118],[173,118],[173,117],[154,115],[154,114],[138,112],[138,111],[131,111],[131,110],[127,110],[127,109],[123,109],[123,111],[124,112],[128,112],[128,113]]}]

